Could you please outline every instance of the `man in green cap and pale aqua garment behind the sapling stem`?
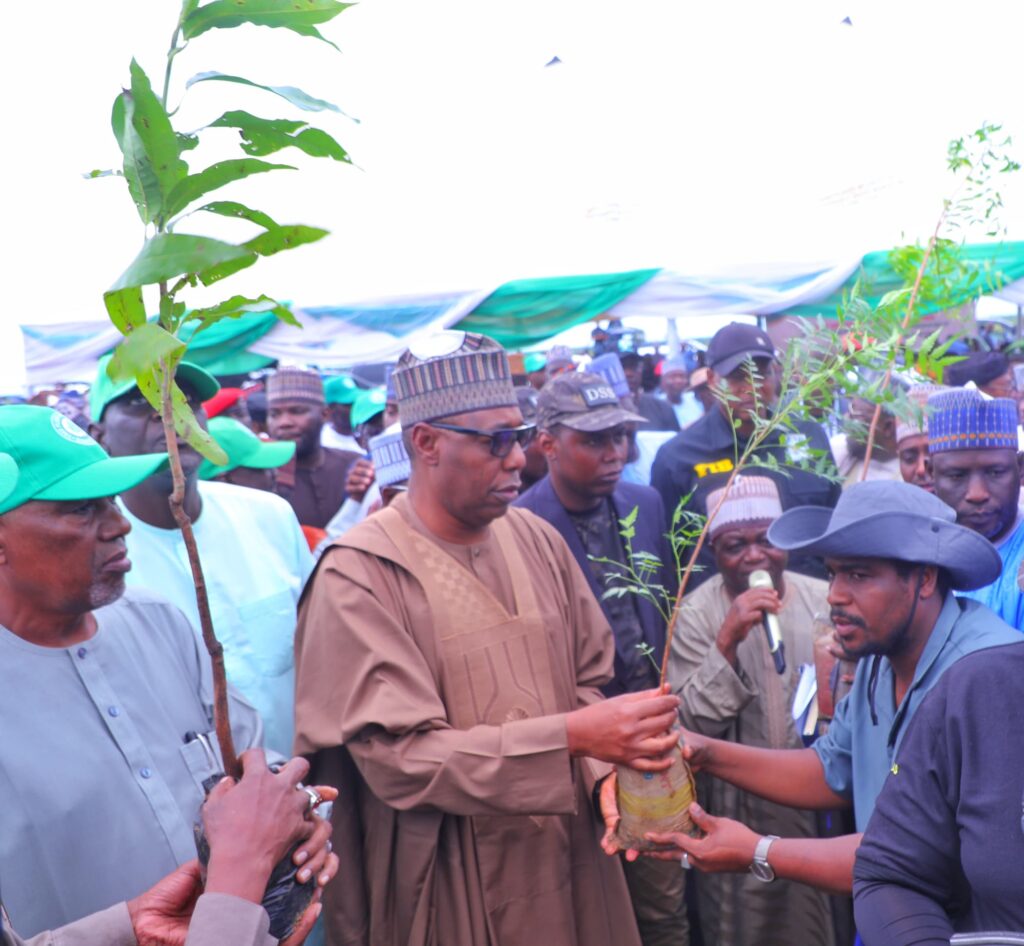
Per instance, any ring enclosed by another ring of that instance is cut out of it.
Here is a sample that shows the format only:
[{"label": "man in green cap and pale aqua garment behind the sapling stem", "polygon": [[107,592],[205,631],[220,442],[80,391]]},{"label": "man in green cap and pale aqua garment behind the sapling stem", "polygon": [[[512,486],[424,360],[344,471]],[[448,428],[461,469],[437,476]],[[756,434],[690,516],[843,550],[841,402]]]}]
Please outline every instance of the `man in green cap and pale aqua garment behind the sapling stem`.
[{"label": "man in green cap and pale aqua garment behind the sapling stem", "polygon": [[[176,380],[207,426],[203,401],[216,381],[200,368]],[[166,446],[160,415],[138,388],[108,397],[100,392],[92,430],[115,457],[153,454]],[[312,568],[309,546],[287,502],[261,490],[200,480],[203,458],[183,440],[178,453],[185,474],[184,510],[193,521],[206,574],[217,636],[224,646],[228,681],[259,711],[269,748],[286,755],[292,744],[296,605]],[[120,505],[131,523],[128,552],[134,568],[128,584],[159,591],[200,633],[196,588],[184,541],[171,515],[169,473],[158,472],[124,491]]]}]

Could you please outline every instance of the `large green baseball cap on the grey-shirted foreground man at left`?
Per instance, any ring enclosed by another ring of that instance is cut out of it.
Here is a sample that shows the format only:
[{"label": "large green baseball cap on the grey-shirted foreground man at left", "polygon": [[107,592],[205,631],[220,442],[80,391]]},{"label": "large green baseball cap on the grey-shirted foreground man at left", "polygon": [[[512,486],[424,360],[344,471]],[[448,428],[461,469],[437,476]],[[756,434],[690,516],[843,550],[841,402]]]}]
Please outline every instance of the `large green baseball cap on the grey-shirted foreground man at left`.
[{"label": "large green baseball cap on the grey-shirted foreground man at left", "polygon": [[[30,500],[94,500],[137,486],[167,466],[167,454],[111,457],[59,411],[31,404],[0,406],[0,456],[17,467],[0,500],[0,514]],[[0,496],[6,462],[0,464]]]}]

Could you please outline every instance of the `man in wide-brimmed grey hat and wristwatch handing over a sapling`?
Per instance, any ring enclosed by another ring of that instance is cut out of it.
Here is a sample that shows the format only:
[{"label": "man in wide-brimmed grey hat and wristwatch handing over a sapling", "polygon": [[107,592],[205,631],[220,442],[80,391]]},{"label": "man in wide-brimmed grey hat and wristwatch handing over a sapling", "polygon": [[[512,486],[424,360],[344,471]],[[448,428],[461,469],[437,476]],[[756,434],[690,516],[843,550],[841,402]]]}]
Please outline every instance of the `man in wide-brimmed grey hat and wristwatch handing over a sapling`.
[{"label": "man in wide-brimmed grey hat and wristwatch handing over a sapling", "polygon": [[[797,507],[768,530],[772,545],[821,555],[828,569],[833,625],[852,657],[864,657],[828,732],[807,749],[765,749],[684,733],[697,769],[771,802],[835,810],[853,806],[858,832],[922,699],[965,654],[1019,642],[1021,636],[984,605],[955,597],[989,584],[998,553],[956,525],[941,500],[908,483],[857,483],[835,510]],[[776,838],[694,806],[706,832],[651,835],[712,872],[751,870],[850,893],[860,833],[820,840]]]}]

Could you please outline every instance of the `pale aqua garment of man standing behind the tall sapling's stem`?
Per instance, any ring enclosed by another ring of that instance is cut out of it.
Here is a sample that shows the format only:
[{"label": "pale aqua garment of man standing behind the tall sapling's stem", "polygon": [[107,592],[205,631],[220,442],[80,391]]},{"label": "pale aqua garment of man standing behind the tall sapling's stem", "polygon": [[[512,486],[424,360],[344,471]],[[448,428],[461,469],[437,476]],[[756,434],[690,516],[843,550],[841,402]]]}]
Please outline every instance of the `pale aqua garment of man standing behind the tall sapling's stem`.
[{"label": "pale aqua garment of man standing behind the tall sapling's stem", "polygon": [[[200,482],[193,523],[228,681],[263,718],[268,748],[292,754],[296,606],[312,570],[309,546],[288,502],[272,492]],[[199,608],[177,529],[136,519],[127,538],[128,584],[148,588],[184,611],[197,635]]]}]

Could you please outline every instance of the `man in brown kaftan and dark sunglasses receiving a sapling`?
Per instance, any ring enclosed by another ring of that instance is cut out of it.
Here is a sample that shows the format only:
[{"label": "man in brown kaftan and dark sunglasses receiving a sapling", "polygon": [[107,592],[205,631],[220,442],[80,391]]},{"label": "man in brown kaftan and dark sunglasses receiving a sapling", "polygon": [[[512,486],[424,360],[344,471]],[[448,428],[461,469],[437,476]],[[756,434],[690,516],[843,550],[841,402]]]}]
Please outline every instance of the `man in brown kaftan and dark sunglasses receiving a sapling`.
[{"label": "man in brown kaftan and dark sunglasses receiving a sapling", "polygon": [[300,612],[297,748],[342,791],[329,943],[637,946],[593,791],[609,762],[665,767],[678,701],[601,699],[601,609],[508,508],[531,430],[505,353],[433,345],[394,373],[409,493],[325,554]]}]

